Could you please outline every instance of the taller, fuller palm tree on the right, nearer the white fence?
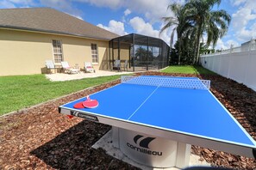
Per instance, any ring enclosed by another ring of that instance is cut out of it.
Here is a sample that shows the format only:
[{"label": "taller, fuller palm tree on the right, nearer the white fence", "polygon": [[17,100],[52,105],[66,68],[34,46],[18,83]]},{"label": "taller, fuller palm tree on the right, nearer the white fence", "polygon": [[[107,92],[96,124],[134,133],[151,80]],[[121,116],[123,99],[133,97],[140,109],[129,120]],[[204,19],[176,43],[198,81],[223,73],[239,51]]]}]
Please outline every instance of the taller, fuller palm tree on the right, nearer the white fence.
[{"label": "taller, fuller palm tree on the right, nearer the white fence", "polygon": [[213,7],[219,6],[220,3],[222,0],[190,0],[184,5],[189,13],[189,20],[197,30],[194,64],[199,61],[200,39],[203,38],[203,33],[207,35],[207,46],[211,43],[215,46],[217,40],[228,32],[230,15],[225,10],[213,10]]}]

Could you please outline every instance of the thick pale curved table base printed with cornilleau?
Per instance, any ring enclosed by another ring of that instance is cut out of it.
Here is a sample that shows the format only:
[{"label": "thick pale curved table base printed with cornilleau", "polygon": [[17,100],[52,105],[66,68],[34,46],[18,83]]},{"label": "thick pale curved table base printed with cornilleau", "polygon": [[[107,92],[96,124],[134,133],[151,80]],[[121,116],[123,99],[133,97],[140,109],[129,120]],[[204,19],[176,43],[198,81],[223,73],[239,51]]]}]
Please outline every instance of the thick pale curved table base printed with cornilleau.
[{"label": "thick pale curved table base printed with cornilleau", "polygon": [[159,168],[184,168],[189,165],[190,145],[188,144],[122,128],[118,131],[118,144],[122,153],[140,164]]}]

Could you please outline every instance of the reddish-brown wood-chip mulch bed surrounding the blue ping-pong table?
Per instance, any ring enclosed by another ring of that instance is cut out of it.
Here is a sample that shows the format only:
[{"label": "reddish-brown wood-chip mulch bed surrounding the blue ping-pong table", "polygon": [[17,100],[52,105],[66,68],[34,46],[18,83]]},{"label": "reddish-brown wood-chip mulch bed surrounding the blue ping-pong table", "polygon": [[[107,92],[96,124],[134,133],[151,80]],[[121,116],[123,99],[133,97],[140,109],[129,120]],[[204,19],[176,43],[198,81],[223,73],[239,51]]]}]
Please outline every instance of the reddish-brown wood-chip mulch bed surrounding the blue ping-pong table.
[{"label": "reddish-brown wood-chip mulch bed surrounding the blue ping-pong table", "polygon": [[[161,76],[197,76],[140,73]],[[256,92],[222,76],[200,76],[211,80],[211,92],[256,139]],[[0,169],[138,169],[91,145],[110,130],[82,118],[66,118],[58,106],[109,88],[120,81],[85,89],[40,106],[0,118]],[[256,161],[212,149],[192,146],[192,153],[214,167],[256,169]]]}]

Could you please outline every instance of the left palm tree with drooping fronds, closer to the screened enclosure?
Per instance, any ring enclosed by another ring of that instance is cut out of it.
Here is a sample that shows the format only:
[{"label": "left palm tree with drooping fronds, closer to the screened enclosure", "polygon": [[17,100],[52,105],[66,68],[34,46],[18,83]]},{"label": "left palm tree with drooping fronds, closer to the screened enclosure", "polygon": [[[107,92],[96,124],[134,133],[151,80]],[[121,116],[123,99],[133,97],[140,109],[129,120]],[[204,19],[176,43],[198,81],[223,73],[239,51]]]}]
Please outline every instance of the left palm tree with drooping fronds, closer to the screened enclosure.
[{"label": "left palm tree with drooping fronds, closer to the screened enclosure", "polygon": [[[168,29],[173,26],[171,39],[170,39],[170,47],[173,45],[173,37],[174,33],[177,33],[178,39],[178,64],[180,64],[180,58],[182,55],[182,45],[181,39],[186,30],[188,30],[191,25],[190,22],[187,21],[186,18],[186,10],[184,9],[184,5],[180,5],[178,3],[172,3],[168,6],[167,9],[171,9],[174,16],[163,17],[162,20],[165,21],[165,26],[161,28],[160,33],[163,33],[165,29]],[[160,34],[159,33],[159,34]]]}]

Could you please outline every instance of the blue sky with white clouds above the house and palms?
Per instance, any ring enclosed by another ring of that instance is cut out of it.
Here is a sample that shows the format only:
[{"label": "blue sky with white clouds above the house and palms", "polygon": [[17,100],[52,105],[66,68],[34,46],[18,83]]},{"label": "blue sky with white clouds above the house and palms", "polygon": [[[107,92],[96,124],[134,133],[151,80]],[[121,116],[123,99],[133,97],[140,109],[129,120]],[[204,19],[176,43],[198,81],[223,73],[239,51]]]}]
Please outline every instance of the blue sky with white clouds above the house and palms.
[{"label": "blue sky with white clouds above the house and palms", "polygon": [[[0,0],[0,8],[51,7],[103,27],[120,35],[140,33],[159,37],[161,17],[170,16],[168,4],[184,0]],[[255,0],[222,0],[219,9],[232,16],[228,33],[218,40],[216,49],[256,38]],[[216,7],[215,7],[216,9]],[[169,44],[171,29],[160,35]]]}]

